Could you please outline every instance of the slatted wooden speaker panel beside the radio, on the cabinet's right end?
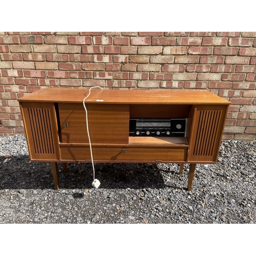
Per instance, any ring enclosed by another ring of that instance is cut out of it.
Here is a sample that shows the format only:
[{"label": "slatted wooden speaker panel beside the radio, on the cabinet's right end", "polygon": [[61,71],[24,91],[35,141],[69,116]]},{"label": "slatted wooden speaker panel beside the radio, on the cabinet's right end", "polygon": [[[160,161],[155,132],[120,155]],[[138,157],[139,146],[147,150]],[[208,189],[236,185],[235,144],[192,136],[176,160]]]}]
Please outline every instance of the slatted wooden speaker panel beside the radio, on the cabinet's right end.
[{"label": "slatted wooden speaker panel beside the radio, on the cabinet's right end", "polygon": [[196,105],[188,162],[217,162],[227,105]]}]

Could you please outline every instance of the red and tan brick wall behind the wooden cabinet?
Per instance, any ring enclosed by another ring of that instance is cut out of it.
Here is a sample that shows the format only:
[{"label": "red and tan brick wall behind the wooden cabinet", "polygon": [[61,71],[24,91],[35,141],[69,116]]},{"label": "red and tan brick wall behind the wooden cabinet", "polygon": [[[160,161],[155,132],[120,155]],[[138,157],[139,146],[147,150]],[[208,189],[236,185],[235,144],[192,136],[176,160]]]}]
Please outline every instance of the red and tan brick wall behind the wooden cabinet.
[{"label": "red and tan brick wall behind the wooden cabinet", "polygon": [[[0,136],[46,87],[209,90],[231,101],[223,139],[255,140],[256,32],[0,32]],[[0,124],[1,125],[1,124]]]}]

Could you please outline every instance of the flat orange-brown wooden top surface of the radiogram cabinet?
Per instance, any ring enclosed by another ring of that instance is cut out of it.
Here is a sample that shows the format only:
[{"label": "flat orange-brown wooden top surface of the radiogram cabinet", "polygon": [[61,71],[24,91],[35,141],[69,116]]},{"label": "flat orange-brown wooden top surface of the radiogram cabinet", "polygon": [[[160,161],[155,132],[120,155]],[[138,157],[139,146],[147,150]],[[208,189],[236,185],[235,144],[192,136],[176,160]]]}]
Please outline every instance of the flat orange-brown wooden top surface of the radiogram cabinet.
[{"label": "flat orange-brown wooden top surface of the radiogram cabinet", "polygon": [[[81,103],[89,89],[46,88],[19,98],[18,101]],[[92,89],[90,103],[114,104],[230,104],[206,90],[101,90]]]}]

